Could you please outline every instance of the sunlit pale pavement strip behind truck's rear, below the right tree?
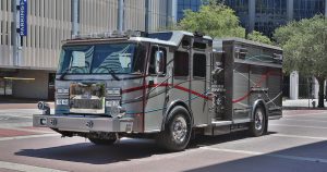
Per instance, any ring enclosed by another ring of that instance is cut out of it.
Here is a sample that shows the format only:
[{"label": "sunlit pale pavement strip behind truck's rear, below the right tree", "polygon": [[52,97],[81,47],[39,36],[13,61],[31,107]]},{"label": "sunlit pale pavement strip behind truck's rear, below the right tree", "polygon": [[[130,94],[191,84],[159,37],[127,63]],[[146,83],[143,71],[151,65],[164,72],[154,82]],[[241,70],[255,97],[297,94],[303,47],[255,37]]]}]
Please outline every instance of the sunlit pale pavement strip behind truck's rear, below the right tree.
[{"label": "sunlit pale pavement strip behind truck's rear, below the right tree", "polygon": [[[315,107],[317,107],[318,99],[283,100],[282,108],[283,109],[314,109],[313,101],[315,101]],[[327,107],[326,101],[325,101],[325,107]],[[317,108],[315,108],[315,109],[317,109]]]}]

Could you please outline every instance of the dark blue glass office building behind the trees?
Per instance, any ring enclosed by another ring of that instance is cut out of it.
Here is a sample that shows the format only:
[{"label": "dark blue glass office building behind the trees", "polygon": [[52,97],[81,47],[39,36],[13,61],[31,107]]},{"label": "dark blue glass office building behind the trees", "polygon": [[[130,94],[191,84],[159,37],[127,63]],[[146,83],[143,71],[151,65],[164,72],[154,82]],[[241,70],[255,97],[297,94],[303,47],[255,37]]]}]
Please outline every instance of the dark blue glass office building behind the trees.
[{"label": "dark blue glass office building behind the trees", "polygon": [[[235,11],[241,25],[247,30],[257,30],[271,37],[274,30],[289,21],[327,15],[327,0],[219,0]],[[179,0],[178,20],[183,11],[198,11],[201,0]]]}]

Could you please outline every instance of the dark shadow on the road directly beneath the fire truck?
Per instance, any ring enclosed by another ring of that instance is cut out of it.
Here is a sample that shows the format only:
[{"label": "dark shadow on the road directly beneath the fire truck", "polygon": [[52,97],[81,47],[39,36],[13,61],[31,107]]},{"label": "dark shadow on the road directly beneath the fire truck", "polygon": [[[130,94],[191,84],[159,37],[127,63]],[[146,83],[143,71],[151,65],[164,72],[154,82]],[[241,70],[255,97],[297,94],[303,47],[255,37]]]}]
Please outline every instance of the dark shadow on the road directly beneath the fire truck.
[{"label": "dark shadow on the road directly beneath the fire truck", "polygon": [[[215,137],[197,136],[196,139],[191,140],[187,149],[184,151],[196,149],[201,146],[228,143],[246,137],[247,136],[244,136],[242,132]],[[166,150],[158,147],[156,142],[152,139],[131,138],[122,139],[120,143],[111,146],[98,146],[86,142],[41,149],[22,149],[15,152],[15,156],[82,162],[89,164],[109,164],[168,153],[179,152],[167,152]]]}]

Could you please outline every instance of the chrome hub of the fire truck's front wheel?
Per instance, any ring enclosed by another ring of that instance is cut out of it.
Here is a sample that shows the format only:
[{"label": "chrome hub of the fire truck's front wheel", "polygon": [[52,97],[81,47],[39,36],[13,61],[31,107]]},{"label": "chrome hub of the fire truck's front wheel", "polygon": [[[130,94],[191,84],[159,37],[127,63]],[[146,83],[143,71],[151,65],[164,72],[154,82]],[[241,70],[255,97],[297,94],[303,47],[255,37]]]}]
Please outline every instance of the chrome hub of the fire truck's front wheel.
[{"label": "chrome hub of the fire truck's front wheel", "polygon": [[184,118],[178,116],[172,123],[172,136],[174,140],[182,143],[186,138],[187,124]]}]

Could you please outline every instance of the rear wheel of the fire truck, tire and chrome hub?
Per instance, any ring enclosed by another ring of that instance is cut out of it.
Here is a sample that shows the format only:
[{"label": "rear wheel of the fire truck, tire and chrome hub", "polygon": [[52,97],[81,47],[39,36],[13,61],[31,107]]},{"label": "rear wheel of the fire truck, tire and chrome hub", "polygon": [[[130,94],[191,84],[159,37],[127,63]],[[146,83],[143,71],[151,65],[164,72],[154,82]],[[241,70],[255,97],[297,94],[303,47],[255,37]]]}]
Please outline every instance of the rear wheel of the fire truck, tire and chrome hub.
[{"label": "rear wheel of the fire truck, tire and chrome hub", "polygon": [[262,106],[254,111],[253,121],[250,124],[249,134],[253,137],[258,137],[265,134],[267,119],[265,110]]}]

